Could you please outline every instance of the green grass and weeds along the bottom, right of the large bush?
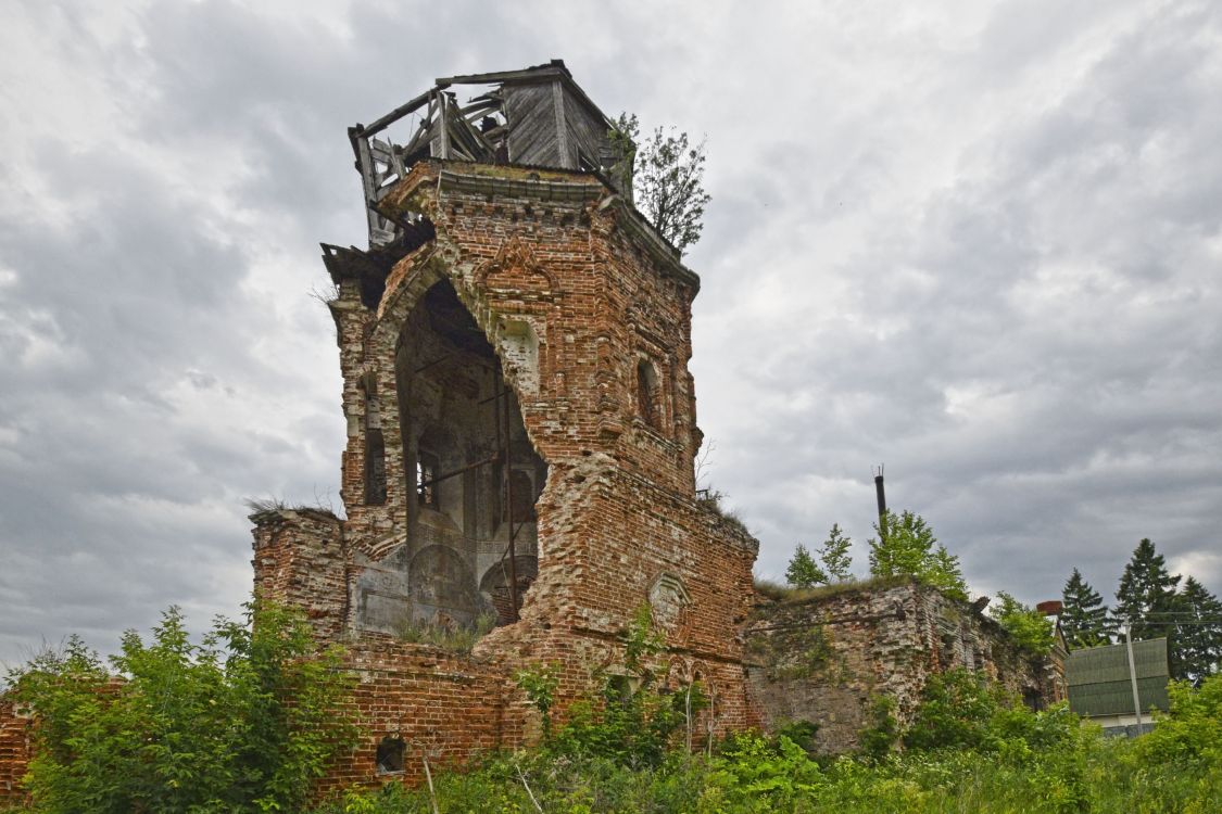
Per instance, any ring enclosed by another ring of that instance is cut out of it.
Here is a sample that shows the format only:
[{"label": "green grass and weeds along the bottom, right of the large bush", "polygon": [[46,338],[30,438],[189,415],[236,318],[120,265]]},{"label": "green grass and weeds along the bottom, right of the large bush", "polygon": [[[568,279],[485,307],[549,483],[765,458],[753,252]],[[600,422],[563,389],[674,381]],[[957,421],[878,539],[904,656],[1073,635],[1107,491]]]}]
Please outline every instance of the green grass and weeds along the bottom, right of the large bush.
[{"label": "green grass and weeds along the bottom, right of the large bush", "polygon": [[[1030,713],[959,675],[932,687],[914,726],[896,733],[903,752],[888,748],[884,725],[874,755],[815,760],[791,737],[741,735],[711,755],[678,749],[655,762],[565,727],[539,748],[435,776],[433,793],[387,786],[319,810],[1222,812],[1222,677],[1177,688],[1174,703],[1154,733],[1110,740],[1064,708]],[[802,727],[793,735],[800,741]]]}]

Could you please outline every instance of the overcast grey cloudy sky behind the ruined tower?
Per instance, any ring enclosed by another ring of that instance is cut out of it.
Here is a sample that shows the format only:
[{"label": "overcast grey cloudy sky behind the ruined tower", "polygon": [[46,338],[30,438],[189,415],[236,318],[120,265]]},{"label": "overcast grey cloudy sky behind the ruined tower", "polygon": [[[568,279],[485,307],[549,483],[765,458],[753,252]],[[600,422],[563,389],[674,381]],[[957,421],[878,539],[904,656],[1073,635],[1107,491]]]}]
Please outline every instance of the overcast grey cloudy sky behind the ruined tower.
[{"label": "overcast grey cloudy sky behind the ruined tower", "polygon": [[1222,5],[48,2],[0,24],[0,661],[251,587],[246,497],[332,503],[318,243],[345,128],[562,57],[708,135],[706,484],[780,576],[871,466],[978,592],[1222,589]]}]

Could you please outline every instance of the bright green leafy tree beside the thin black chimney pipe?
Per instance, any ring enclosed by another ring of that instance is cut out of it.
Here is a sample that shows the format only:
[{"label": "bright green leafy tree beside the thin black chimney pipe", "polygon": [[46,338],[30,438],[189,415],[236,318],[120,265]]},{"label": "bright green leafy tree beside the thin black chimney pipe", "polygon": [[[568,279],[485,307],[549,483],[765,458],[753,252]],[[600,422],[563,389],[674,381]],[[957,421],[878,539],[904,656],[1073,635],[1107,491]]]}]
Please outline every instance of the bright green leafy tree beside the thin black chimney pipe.
[{"label": "bright green leafy tree beside the thin black chimney pipe", "polygon": [[945,546],[935,548],[937,537],[924,517],[907,510],[897,516],[888,510],[874,524],[874,531],[877,537],[868,541],[871,576],[914,576],[948,596],[967,599],[959,558]]}]

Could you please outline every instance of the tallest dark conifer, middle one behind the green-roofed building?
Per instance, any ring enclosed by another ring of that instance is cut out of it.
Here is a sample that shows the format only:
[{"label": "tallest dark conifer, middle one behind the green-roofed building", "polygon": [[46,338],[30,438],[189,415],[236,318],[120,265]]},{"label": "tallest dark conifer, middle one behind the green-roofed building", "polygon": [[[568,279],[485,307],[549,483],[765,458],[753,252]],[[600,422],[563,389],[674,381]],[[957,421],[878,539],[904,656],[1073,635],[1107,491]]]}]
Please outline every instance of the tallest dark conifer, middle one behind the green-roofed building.
[{"label": "tallest dark conifer, middle one behind the green-roofed building", "polygon": [[1116,588],[1116,605],[1112,616],[1117,624],[1128,619],[1133,627],[1134,641],[1167,637],[1167,654],[1171,661],[1171,676],[1183,679],[1179,663],[1179,642],[1174,625],[1179,611],[1179,598],[1176,588],[1179,575],[1167,571],[1167,563],[1155,549],[1150,538],[1143,538],[1133,550],[1133,556],[1124,566],[1121,583]]}]

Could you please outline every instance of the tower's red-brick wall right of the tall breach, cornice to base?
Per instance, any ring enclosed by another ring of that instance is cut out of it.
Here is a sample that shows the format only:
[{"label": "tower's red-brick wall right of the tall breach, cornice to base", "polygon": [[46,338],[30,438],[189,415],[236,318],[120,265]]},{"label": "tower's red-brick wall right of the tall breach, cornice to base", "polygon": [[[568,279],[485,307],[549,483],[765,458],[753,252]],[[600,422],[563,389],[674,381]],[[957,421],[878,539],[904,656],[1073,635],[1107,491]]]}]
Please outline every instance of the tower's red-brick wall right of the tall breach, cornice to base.
[{"label": "tower's red-brick wall right of the tall breach, cornice to base", "polygon": [[[522,621],[477,652],[562,661],[560,694],[576,698],[622,663],[621,636],[651,600],[668,609],[660,624],[683,669],[720,685],[723,721],[752,720],[734,631],[758,543],[694,502],[695,277],[642,245],[634,214],[579,173],[422,164],[385,205],[425,212],[437,238],[392,271],[375,340],[444,273],[502,359],[549,467]],[[642,360],[659,373],[657,426],[638,410]]]}]

